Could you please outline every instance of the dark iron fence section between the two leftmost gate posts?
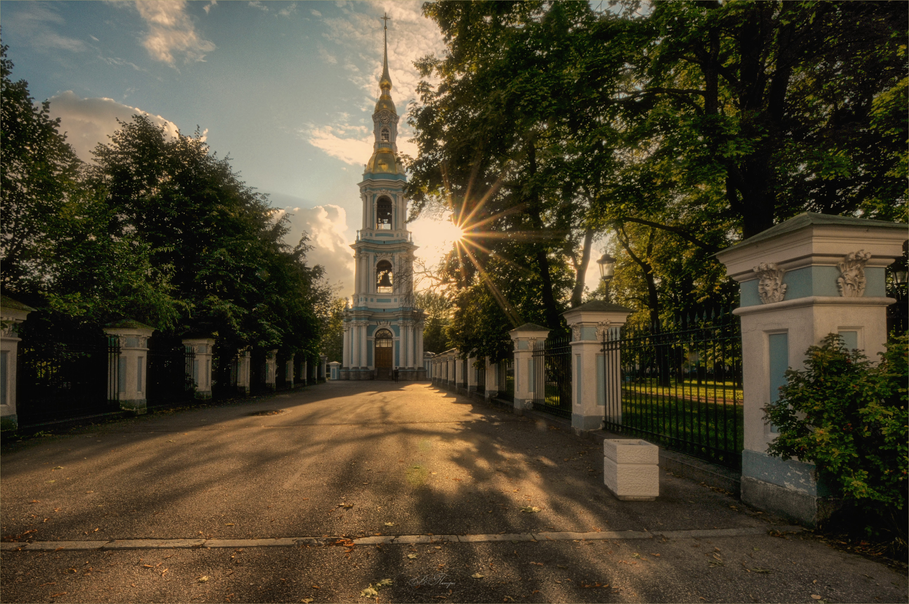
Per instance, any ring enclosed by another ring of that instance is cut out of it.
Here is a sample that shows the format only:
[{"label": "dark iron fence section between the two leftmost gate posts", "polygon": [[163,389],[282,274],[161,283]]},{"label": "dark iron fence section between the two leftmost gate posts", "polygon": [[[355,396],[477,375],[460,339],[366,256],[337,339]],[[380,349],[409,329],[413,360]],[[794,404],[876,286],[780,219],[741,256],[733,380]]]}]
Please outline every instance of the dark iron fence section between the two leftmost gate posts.
[{"label": "dark iron fence section between the two leftmost gate posts", "polygon": [[17,326],[16,415],[20,426],[120,408],[120,345],[101,327],[55,328],[37,317]]}]

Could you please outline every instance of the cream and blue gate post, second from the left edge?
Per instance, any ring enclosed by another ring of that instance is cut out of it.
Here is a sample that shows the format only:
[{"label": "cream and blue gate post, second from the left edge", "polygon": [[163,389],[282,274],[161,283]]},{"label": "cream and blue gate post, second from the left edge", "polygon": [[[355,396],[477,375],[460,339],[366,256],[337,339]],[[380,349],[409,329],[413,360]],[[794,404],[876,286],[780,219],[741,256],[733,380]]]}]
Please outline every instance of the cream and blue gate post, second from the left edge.
[{"label": "cream and blue gate post, second from the left edge", "polygon": [[155,329],[138,321],[123,319],[108,323],[105,333],[120,340],[120,357],[117,358],[117,398],[120,408],[144,414],[148,409],[145,396],[145,378],[148,373],[148,338]]}]

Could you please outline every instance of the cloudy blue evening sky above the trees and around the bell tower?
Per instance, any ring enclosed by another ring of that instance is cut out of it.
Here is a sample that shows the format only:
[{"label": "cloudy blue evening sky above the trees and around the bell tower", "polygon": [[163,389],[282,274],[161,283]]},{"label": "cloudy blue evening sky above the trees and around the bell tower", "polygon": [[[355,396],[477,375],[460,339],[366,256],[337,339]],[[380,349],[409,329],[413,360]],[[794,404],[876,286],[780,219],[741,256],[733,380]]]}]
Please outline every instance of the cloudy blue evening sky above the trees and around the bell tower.
[{"label": "cloudy blue evening sky above the trees and around the bell tower", "polygon": [[[76,153],[89,151],[141,111],[170,132],[196,129],[249,186],[291,215],[288,243],[305,230],[325,266],[352,293],[361,227],[357,183],[372,153],[372,112],[388,22],[392,96],[407,139],[407,106],[419,76],[414,61],[441,55],[422,2],[3,0],[3,43],[14,79],[25,79]],[[411,224],[416,255],[432,267],[451,247],[445,216]],[[593,263],[592,263],[593,264]],[[587,279],[595,287],[595,267]]]}]

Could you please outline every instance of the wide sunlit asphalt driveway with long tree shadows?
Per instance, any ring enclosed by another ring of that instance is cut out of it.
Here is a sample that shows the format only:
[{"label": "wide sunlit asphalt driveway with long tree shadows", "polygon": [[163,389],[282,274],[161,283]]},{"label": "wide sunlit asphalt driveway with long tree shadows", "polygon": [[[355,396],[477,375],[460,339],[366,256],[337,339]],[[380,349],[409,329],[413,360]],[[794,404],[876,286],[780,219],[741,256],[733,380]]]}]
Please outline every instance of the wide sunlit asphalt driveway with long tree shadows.
[{"label": "wide sunlit asphalt driveway with long tree shadows", "polygon": [[[7,549],[7,602],[907,601],[904,571],[810,535],[771,537],[782,519],[684,478],[662,476],[654,502],[618,501],[593,443],[426,383],[336,382],[154,414],[5,442],[2,461],[3,535],[19,542],[338,538]],[[754,534],[544,537],[714,528]],[[535,537],[435,542],[500,533]],[[376,535],[434,542],[340,539]],[[361,596],[370,585],[377,596]]]}]

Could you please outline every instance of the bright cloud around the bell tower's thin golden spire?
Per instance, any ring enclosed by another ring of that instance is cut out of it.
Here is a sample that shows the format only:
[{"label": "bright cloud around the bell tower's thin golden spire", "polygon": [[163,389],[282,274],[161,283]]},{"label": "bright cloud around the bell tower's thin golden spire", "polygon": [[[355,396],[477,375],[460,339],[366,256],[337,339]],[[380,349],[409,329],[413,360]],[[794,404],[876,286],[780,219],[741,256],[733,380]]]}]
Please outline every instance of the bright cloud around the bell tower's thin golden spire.
[{"label": "bright cloud around the bell tower's thin golden spire", "polygon": [[[398,149],[416,155],[416,146],[407,139],[413,132],[405,123],[407,105],[416,99],[420,76],[414,61],[427,54],[441,54],[445,46],[438,26],[422,14],[422,2],[338,3],[344,15],[325,19],[325,39],[336,45],[334,52],[319,50],[328,63],[339,60],[348,79],[363,90],[360,108],[372,115],[378,96],[378,81],[382,75],[383,35],[379,16],[386,11],[392,17],[388,28],[388,69],[394,87],[398,114],[401,116],[397,137]],[[311,11],[314,12],[314,11]],[[320,15],[321,16],[321,15]],[[361,68],[362,67],[362,68]],[[367,118],[367,123],[371,121]],[[365,126],[352,125],[348,116],[341,116],[329,126],[302,128],[299,134],[311,145],[347,164],[364,164],[373,153],[372,131]]]}]

